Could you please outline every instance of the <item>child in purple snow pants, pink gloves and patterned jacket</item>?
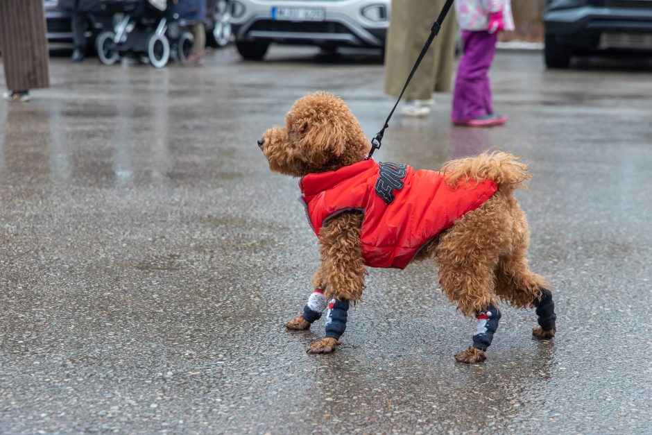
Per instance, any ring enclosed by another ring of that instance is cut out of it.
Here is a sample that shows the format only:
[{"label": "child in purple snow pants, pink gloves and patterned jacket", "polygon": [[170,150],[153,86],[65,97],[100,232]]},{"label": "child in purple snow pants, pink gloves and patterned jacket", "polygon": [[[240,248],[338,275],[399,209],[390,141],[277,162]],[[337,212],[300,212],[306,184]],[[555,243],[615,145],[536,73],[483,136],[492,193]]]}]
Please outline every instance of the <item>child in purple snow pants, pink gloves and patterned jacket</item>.
[{"label": "child in purple snow pants, pink gloves and patterned jacket", "polygon": [[507,116],[494,112],[487,75],[501,31],[513,31],[510,0],[456,0],[464,53],[453,94],[452,121],[460,126],[498,126]]}]

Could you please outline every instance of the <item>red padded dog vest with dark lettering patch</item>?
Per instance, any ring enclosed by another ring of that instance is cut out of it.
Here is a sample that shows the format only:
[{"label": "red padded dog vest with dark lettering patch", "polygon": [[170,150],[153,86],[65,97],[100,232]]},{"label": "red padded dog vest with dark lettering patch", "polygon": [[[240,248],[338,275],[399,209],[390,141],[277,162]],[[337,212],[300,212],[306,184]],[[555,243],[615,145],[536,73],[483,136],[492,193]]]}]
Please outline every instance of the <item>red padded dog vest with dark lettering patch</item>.
[{"label": "red padded dog vest with dark lettering patch", "polygon": [[370,267],[405,268],[418,250],[497,190],[492,180],[450,189],[436,171],[363,160],[336,171],[311,173],[301,199],[315,234],[328,219],[360,210],[362,256]]}]

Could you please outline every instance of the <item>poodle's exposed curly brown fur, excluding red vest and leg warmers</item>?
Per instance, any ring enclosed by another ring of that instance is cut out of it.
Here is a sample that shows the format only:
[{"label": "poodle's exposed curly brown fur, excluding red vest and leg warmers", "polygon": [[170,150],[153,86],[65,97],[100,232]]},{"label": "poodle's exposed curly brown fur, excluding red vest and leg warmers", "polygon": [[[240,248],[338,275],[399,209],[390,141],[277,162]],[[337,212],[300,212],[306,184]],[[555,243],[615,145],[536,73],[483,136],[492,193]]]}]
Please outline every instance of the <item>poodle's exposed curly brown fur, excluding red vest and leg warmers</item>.
[{"label": "poodle's exposed curly brown fur, excluding red vest and leg warmers", "polygon": [[[334,171],[362,160],[370,144],[345,103],[332,94],[317,92],[302,97],[286,115],[286,125],[266,130],[261,150],[273,171],[302,177]],[[465,316],[474,316],[498,299],[514,307],[529,307],[541,298],[547,282],[530,271],[526,251],[529,228],[513,191],[530,176],[526,164],[513,155],[495,152],[447,162],[441,172],[451,187],[471,180],[494,180],[497,192],[481,207],[465,214],[420,250],[415,260],[433,258],[439,267],[440,287]],[[363,216],[344,212],[320,230],[320,266],[313,277],[326,298],[352,303],[362,296],[366,268],[361,255]],[[286,325],[304,330],[309,323],[300,314]],[[535,328],[538,338],[554,330]],[[339,342],[323,339],[311,353],[328,353]],[[474,363],[484,352],[470,348],[456,355]]]}]

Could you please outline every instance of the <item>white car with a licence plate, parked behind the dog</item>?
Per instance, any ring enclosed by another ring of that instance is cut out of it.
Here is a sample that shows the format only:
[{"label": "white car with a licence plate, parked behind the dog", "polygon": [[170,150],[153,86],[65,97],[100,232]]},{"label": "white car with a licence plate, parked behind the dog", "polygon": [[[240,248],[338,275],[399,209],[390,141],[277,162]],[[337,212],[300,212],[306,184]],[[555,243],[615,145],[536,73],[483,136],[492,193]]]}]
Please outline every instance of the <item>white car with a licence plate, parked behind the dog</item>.
[{"label": "white car with a licence plate, parked behind the dog", "polygon": [[231,26],[245,59],[271,42],[384,48],[391,0],[232,0]]}]

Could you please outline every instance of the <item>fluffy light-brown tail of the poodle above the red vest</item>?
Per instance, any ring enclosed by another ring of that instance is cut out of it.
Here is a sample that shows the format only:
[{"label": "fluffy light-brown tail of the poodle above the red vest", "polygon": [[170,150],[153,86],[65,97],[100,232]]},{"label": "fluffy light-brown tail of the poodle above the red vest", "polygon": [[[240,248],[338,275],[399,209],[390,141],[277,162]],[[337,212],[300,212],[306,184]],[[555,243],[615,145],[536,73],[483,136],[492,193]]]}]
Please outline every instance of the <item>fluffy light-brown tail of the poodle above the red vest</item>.
[{"label": "fluffy light-brown tail of the poodle above the red vest", "polygon": [[499,191],[510,192],[517,187],[527,188],[523,182],[530,178],[527,165],[519,158],[501,151],[482,153],[477,157],[452,160],[441,172],[448,178],[450,187],[464,185],[470,180],[494,180]]}]

